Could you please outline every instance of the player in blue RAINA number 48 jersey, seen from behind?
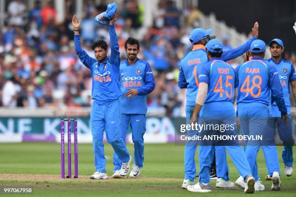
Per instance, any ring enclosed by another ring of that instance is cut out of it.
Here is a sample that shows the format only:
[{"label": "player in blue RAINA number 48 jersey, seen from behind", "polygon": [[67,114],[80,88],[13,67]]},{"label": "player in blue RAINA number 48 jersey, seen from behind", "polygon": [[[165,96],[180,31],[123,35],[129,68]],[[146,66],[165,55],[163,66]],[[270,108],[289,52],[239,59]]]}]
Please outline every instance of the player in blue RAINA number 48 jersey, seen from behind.
[{"label": "player in blue RAINA number 48 jersey, seen from behind", "polygon": [[[238,78],[237,112],[244,135],[262,135],[266,131],[270,92],[281,111],[281,116],[284,117],[284,123],[288,121],[278,71],[273,65],[264,61],[265,48],[265,42],[262,40],[253,41],[250,48],[252,59],[238,65],[235,69]],[[247,141],[245,146],[245,154],[256,181],[256,191],[265,189],[264,185],[259,182],[256,163],[257,153],[263,142]],[[274,145],[262,145],[261,147],[266,157],[267,169],[272,171],[273,183],[271,189],[281,190],[277,149]],[[236,184],[244,187],[241,177],[237,179]]]}]

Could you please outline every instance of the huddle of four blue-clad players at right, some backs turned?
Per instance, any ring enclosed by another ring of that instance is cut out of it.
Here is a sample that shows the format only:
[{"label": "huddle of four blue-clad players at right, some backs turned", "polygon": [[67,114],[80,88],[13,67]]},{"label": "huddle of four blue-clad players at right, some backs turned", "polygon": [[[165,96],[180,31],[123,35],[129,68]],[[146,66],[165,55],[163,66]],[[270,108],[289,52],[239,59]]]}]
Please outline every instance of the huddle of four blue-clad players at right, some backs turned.
[{"label": "huddle of four blue-clad players at right, some backs turned", "polygon": [[[238,141],[215,141],[199,146],[198,183],[194,183],[196,167],[194,155],[196,141],[188,141],[185,146],[185,179],[182,188],[192,192],[211,192],[210,178],[215,163],[216,187],[231,188],[237,185],[245,193],[263,191],[265,186],[259,181],[256,163],[257,153],[262,147],[271,190],[281,190],[280,167],[274,132],[278,132],[284,144],[282,153],[284,173],[293,173],[292,124],[290,118],[290,86],[296,101],[296,72],[291,62],[281,58],[283,42],[274,39],[269,42],[271,58],[264,60],[266,44],[258,39],[258,23],[252,28],[252,38],[243,45],[222,51],[222,43],[211,39],[211,29],[193,29],[190,41],[192,51],[181,61],[178,85],[187,88],[186,116],[192,123],[233,124],[237,121],[243,135],[262,135],[262,141],[244,141],[244,149]],[[227,60],[248,54],[244,63],[235,69]],[[192,64],[194,59],[195,64]],[[234,104],[237,104],[237,113]],[[199,135],[207,135],[199,131]],[[188,132],[189,135],[191,135]],[[193,132],[194,133],[194,132]],[[236,129],[223,132],[236,135]],[[229,180],[226,150],[234,162],[239,176],[235,183]]]}]

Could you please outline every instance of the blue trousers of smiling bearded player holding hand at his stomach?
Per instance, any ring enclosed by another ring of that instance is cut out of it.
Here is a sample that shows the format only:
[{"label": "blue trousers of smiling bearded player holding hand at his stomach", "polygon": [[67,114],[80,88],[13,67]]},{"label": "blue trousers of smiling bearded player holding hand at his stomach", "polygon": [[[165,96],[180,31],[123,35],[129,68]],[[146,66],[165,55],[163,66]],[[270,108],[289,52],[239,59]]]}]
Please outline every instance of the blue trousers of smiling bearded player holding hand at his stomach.
[{"label": "blue trousers of smiling bearded player holding hand at his stomach", "polygon": [[[145,114],[120,114],[120,133],[121,138],[126,139],[128,127],[132,128],[132,140],[134,147],[133,161],[139,168],[143,168],[144,163],[144,134],[146,132]],[[114,171],[120,169],[122,161],[114,152],[113,155]]]}]

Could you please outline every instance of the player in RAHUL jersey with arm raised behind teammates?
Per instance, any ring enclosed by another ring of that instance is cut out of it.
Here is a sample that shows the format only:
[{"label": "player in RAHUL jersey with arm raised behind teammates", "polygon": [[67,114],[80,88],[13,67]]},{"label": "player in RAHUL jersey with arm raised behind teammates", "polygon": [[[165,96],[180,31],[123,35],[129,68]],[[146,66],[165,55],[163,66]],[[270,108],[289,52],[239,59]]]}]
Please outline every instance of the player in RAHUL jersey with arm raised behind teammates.
[{"label": "player in RAHUL jersey with arm raised behind teammates", "polygon": [[[228,61],[241,56],[246,51],[249,50],[251,42],[258,37],[258,23],[256,22],[252,28],[252,38],[242,44],[241,46],[225,51],[222,53],[222,60]],[[202,28],[195,28],[190,34],[190,41],[193,44],[192,51],[189,52],[182,60],[178,78],[178,86],[180,88],[187,88],[186,93],[186,117],[187,124],[190,122],[192,117],[193,109],[195,106],[195,99],[198,92],[198,79],[197,79],[197,69],[200,65],[207,63],[207,52],[205,45],[210,40],[210,34],[212,30],[204,30]],[[196,167],[194,161],[194,155],[196,151],[196,143],[193,141],[189,142],[185,146],[184,162],[185,162],[185,178],[182,184],[182,188],[186,189],[188,185],[194,184],[194,177],[196,176]],[[225,158],[226,162],[226,152],[221,151],[222,156],[220,158]],[[214,157],[215,158],[215,157]],[[222,162],[223,163],[223,162]],[[227,169],[225,169],[227,172]],[[217,177],[215,170],[215,161],[213,161],[213,167],[211,169],[211,177]]]}]

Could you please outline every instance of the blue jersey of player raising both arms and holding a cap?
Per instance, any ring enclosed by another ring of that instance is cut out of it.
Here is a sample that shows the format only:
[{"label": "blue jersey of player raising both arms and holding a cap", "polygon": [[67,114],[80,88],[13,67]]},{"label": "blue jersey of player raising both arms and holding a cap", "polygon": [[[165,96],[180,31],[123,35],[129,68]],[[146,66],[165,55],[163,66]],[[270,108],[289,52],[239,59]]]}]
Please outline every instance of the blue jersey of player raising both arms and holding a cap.
[{"label": "blue jersey of player raising both arms and holding a cap", "polygon": [[80,61],[89,68],[92,75],[91,98],[99,105],[105,105],[119,99],[119,45],[114,25],[109,25],[111,57],[98,62],[90,57],[82,48],[80,35],[74,35],[75,52]]}]

